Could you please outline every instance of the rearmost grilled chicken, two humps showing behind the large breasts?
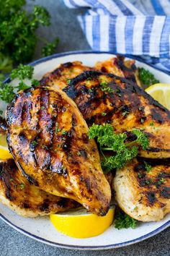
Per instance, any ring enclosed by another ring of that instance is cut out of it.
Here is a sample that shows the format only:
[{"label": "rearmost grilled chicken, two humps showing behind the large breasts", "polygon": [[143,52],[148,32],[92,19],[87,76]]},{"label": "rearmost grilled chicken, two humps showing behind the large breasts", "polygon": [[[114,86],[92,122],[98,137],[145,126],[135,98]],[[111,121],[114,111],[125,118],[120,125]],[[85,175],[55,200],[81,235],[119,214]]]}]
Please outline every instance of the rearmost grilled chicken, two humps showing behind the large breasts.
[{"label": "rearmost grilled chicken, two humps showing behind the large breasts", "polygon": [[87,67],[81,61],[66,62],[51,72],[46,73],[40,80],[43,86],[50,86],[56,89],[63,89],[69,80],[87,70],[99,70],[102,72],[113,73],[120,77],[125,77],[133,82],[138,80],[138,70],[134,60],[125,61],[125,58],[117,56],[106,61],[97,62],[95,67]]}]

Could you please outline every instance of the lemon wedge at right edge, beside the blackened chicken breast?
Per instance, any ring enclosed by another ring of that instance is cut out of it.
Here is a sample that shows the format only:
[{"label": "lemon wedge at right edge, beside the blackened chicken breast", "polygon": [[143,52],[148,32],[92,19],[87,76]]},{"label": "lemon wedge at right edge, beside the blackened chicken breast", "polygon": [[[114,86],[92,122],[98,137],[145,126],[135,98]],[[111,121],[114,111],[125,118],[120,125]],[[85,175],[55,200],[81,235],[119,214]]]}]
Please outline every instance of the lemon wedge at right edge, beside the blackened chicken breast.
[{"label": "lemon wedge at right edge, beside the blackened chicken breast", "polygon": [[151,85],[146,89],[146,93],[170,110],[170,85],[161,83]]}]

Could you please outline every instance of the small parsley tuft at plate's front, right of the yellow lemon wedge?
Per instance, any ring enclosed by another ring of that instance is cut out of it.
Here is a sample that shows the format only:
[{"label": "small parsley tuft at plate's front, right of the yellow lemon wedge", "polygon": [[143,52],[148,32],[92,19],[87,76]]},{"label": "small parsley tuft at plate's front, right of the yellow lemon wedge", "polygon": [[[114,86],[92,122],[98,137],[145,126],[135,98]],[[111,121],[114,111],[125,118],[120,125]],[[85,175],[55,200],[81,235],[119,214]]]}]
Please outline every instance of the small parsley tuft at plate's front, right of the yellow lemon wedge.
[{"label": "small parsley tuft at plate's front, right of the yellow lemon wedge", "polygon": [[135,229],[137,221],[134,218],[128,216],[128,214],[123,212],[118,212],[115,217],[115,228],[116,229]]}]

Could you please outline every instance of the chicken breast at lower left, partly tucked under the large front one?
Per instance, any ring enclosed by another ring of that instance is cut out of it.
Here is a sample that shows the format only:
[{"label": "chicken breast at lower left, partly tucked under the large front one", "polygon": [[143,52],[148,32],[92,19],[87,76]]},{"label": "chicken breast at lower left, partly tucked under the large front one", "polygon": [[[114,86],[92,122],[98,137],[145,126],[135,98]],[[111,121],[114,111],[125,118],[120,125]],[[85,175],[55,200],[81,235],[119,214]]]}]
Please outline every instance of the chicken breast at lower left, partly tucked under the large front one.
[{"label": "chicken breast at lower left, partly tucked under the large front one", "polygon": [[79,206],[74,200],[51,195],[30,184],[13,159],[0,160],[0,202],[24,217],[45,216]]}]

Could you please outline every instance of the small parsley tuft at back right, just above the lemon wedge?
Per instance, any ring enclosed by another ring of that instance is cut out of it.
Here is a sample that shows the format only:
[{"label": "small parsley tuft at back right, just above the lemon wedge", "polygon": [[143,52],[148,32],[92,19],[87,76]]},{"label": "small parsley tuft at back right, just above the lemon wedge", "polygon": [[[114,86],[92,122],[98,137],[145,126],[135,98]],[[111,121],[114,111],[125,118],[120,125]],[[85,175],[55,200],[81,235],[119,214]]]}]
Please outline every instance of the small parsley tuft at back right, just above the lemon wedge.
[{"label": "small parsley tuft at back right, just above the lemon wedge", "polygon": [[144,69],[143,67],[138,68],[138,77],[140,82],[146,86],[159,82],[159,80],[157,80],[151,72],[149,72],[147,69]]}]

